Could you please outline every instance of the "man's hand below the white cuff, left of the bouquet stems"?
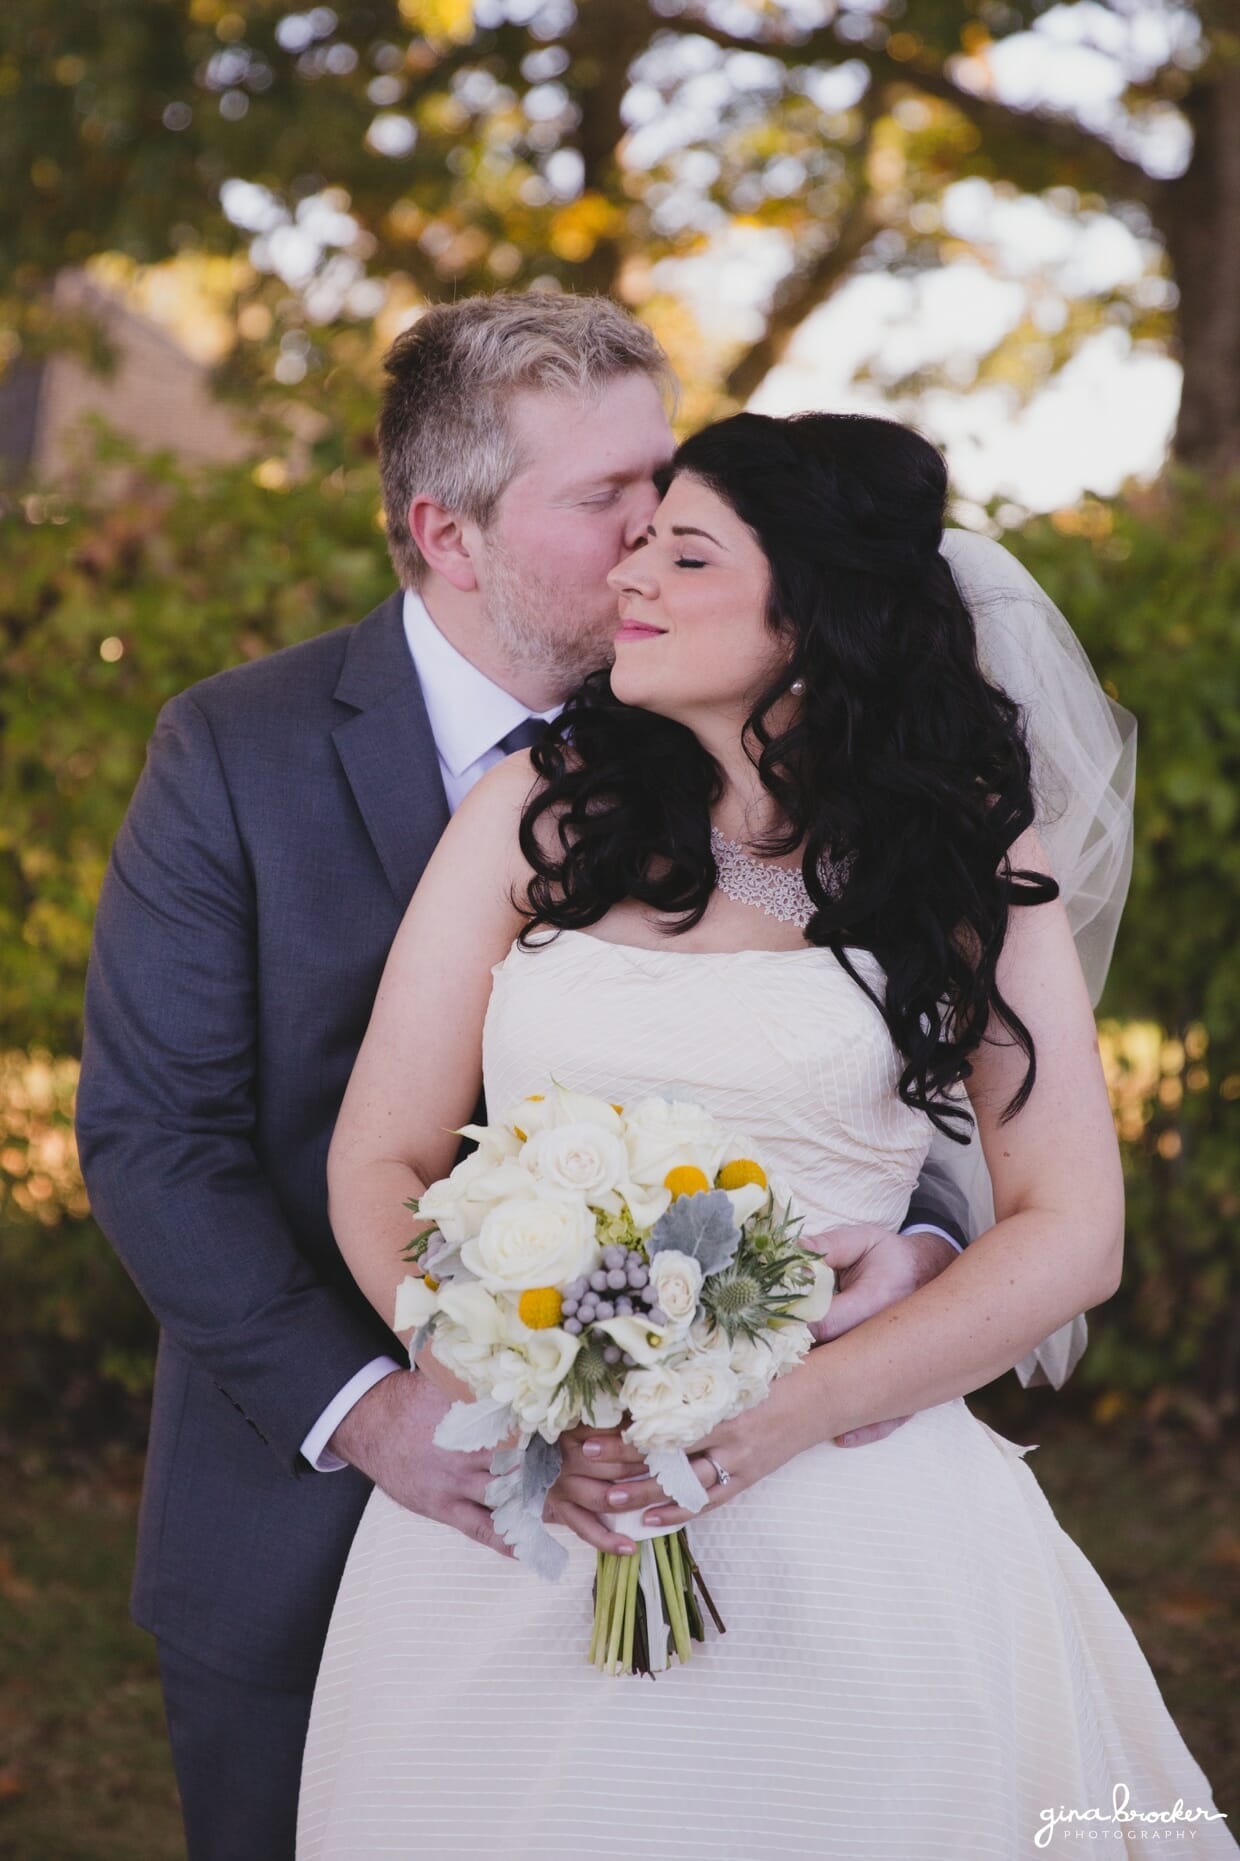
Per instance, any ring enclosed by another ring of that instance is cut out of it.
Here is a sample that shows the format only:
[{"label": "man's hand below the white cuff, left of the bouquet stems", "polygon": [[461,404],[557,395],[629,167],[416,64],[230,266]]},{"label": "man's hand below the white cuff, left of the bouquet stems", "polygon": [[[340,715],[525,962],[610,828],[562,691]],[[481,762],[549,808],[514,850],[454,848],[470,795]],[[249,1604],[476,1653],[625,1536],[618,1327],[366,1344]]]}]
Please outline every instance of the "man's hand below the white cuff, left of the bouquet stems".
[{"label": "man's hand below the white cuff, left of the bouquet stems", "polygon": [[359,1468],[406,1511],[451,1524],[501,1558],[512,1550],[495,1533],[484,1493],[492,1453],[436,1448],[432,1435],[451,1396],[411,1370],[393,1370],[348,1411],[330,1440],[333,1453]]}]

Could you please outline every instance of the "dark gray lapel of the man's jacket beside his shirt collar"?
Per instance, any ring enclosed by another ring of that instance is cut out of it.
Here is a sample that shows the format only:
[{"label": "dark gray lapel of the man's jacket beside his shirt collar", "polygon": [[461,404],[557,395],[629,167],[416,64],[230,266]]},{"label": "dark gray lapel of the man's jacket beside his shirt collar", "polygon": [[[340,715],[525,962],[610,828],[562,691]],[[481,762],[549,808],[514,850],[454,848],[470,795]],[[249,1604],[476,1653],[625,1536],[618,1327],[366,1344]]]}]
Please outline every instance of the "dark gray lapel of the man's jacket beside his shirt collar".
[{"label": "dark gray lapel of the man's jacket beside his shirt collar", "polygon": [[354,713],[331,741],[400,910],[449,823],[439,757],[393,594],[354,633],[333,698]]}]

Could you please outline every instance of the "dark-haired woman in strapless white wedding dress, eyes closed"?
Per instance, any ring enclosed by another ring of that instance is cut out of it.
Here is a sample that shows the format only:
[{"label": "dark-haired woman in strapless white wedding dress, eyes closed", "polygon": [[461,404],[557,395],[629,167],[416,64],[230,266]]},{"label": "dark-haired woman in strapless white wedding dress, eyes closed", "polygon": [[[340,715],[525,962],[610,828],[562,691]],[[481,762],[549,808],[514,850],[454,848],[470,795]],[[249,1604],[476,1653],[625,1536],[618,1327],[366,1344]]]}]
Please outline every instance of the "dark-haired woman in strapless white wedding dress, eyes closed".
[{"label": "dark-haired woman in strapless white wedding dress, eyes closed", "polygon": [[607,1519],[687,1517],[616,1435],[585,1429],[553,1489],[560,1584],[376,1491],[302,1861],[1015,1861],[1138,1816],[1238,1852],[1028,1450],[963,1399],[1115,1292],[1123,1189],[1048,856],[1072,797],[1045,804],[1031,718],[979,664],[944,499],[940,456],[886,421],[739,415],[680,449],[613,573],[611,676],[426,869],[330,1191],[384,1318],[402,1204],[480,1085],[495,1113],[551,1079],[693,1100],[773,1159],[806,1234],[896,1225],[972,1115],[994,1219],[694,1450],[728,1632],[654,1684],[583,1658],[594,1546],[631,1550]]}]

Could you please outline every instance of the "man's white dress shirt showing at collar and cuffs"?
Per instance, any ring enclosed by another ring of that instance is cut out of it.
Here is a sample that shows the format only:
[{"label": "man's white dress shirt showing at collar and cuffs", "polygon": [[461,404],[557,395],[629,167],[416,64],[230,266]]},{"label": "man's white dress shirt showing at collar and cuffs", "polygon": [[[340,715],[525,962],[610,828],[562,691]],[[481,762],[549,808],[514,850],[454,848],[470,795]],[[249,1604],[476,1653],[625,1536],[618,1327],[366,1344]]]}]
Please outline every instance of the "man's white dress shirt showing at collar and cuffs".
[{"label": "man's white dress shirt showing at collar and cuffs", "polygon": [[[426,610],[426,603],[411,588],[404,592],[404,636],[410,642],[413,668],[423,689],[430,733],[439,752],[439,774],[449,811],[456,813],[469,789],[488,769],[503,763],[505,752],[497,746],[501,737],[525,722],[531,713],[519,698],[506,692],[486,672],[458,653]],[[536,711],[534,716],[553,718],[555,711]],[[903,1234],[938,1234],[940,1239],[961,1251],[959,1241],[937,1228],[929,1221],[918,1221]],[[357,1375],[350,1377],[344,1388],[328,1403],[309,1435],[302,1442],[302,1453],[320,1474],[335,1474],[346,1463],[328,1452],[328,1442],[337,1427],[367,1390],[389,1377],[393,1370],[404,1370],[395,1357],[374,1357]]]}]

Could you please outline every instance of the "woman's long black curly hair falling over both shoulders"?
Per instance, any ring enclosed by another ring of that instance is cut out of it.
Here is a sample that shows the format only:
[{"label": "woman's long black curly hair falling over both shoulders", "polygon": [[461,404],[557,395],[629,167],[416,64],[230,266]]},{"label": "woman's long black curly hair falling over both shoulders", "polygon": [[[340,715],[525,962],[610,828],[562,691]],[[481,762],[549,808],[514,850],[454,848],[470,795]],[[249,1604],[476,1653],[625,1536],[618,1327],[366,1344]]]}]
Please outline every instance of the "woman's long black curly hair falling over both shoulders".
[{"label": "woman's long black curly hair falling over both shoulders", "polygon": [[[806,940],[883,1012],[905,1061],[901,1100],[964,1143],[972,1117],[944,1092],[972,1072],[991,1014],[1028,1059],[1004,1120],[1033,1091],[1033,1040],[996,966],[1009,906],[1048,903],[1059,888],[1007,858],[1033,823],[1030,752],[1018,705],[977,664],[938,553],[942,454],[894,421],[739,413],[687,439],[661,489],[685,473],[756,536],[771,571],[767,623],[791,648],[745,724],[786,821],[762,850],[804,849]],[[775,733],[773,705],[793,679],[804,698]],[[542,783],[521,819],[532,867],[523,940],[598,923],[622,899],[668,914],[670,934],[696,925],[717,880],[709,810],[722,778],[693,731],[620,703],[596,672],[532,759]],[[884,999],[847,945],[873,951]]]}]

